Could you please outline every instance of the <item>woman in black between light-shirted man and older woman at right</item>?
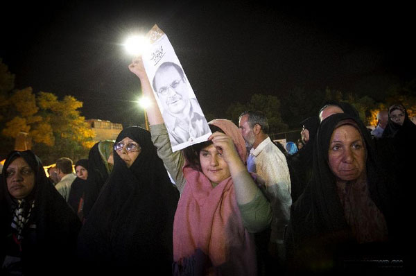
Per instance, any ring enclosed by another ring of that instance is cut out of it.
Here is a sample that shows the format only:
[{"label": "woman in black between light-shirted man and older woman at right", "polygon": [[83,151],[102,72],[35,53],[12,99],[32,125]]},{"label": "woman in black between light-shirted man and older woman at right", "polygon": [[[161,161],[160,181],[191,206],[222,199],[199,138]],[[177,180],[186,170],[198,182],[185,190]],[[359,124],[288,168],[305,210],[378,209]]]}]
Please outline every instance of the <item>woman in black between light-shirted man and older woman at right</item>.
[{"label": "woman in black between light-shirted man and older woman at right", "polygon": [[299,198],[312,175],[313,146],[318,131],[319,118],[309,117],[301,122],[301,135],[305,137],[306,144],[294,155],[288,157],[288,166],[291,169],[291,196],[292,202]]}]

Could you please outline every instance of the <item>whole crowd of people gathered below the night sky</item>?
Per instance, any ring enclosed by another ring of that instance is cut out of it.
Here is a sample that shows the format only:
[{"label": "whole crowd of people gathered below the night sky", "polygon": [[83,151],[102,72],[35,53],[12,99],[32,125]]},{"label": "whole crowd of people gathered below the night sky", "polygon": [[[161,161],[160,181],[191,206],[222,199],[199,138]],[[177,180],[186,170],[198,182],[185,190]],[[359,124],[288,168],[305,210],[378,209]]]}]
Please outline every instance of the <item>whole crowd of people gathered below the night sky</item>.
[{"label": "whole crowd of people gathered below the night sky", "polygon": [[[129,69],[156,103],[141,58]],[[157,104],[147,114],[150,132],[125,128],[74,166],[58,159],[49,177],[31,150],[6,157],[1,275],[409,268],[416,126],[404,105],[381,111],[370,132],[352,105],[325,103],[286,148],[257,110],[239,126],[210,121],[207,141],[177,151]]]}]

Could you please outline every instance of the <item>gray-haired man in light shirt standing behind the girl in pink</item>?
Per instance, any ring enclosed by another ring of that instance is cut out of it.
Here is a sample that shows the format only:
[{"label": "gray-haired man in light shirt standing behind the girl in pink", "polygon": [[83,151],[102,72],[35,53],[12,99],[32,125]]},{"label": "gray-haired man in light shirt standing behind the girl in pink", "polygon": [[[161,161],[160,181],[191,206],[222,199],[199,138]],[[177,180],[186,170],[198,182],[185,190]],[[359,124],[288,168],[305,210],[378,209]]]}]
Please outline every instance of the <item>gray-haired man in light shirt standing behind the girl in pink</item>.
[{"label": "gray-haired man in light shirt standing behind the girl in pink", "polygon": [[286,156],[268,136],[268,119],[257,110],[243,112],[239,118],[241,135],[250,150],[248,171],[257,173],[266,183],[266,193],[273,210],[269,252],[284,261],[284,230],[292,205],[291,177]]}]

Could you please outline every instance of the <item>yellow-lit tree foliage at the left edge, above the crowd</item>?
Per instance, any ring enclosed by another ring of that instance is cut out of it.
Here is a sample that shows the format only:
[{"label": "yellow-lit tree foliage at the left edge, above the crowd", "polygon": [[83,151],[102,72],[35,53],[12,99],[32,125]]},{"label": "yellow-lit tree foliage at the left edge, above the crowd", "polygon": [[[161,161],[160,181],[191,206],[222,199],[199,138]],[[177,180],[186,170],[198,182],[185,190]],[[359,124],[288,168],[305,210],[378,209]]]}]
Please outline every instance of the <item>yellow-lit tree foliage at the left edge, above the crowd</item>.
[{"label": "yellow-lit tree foliage at the left edge, above the crowd", "polygon": [[13,90],[14,76],[0,60],[0,146],[4,158],[19,132],[33,141],[33,150],[45,164],[59,157],[87,157],[94,146],[94,132],[80,114],[83,103],[73,96],[33,93],[31,87]]}]

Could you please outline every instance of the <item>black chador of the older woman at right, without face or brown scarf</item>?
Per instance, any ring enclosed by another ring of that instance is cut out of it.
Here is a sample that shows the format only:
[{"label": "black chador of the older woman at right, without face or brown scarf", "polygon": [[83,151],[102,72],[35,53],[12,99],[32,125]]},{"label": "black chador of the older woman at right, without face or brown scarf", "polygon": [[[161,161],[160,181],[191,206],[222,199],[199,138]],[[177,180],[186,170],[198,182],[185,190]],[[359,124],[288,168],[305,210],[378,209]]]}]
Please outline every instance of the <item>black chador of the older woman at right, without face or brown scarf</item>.
[{"label": "black chador of the older woman at right, without face or brown scarf", "polygon": [[[344,209],[336,188],[336,178],[329,168],[329,141],[337,124],[343,120],[355,121],[367,150],[367,187],[370,198],[383,214],[388,227],[385,243],[358,244],[345,219]],[[334,273],[345,269],[369,268],[365,258],[403,259],[400,219],[400,195],[397,178],[386,173],[388,164],[379,157],[376,144],[363,123],[348,114],[333,114],[322,121],[313,151],[313,176],[304,193],[291,207],[285,243],[290,268],[295,273]],[[348,266],[348,260],[358,261]],[[370,264],[374,265],[374,263]],[[352,268],[354,267],[354,268]],[[374,267],[370,267],[370,270]]]}]

